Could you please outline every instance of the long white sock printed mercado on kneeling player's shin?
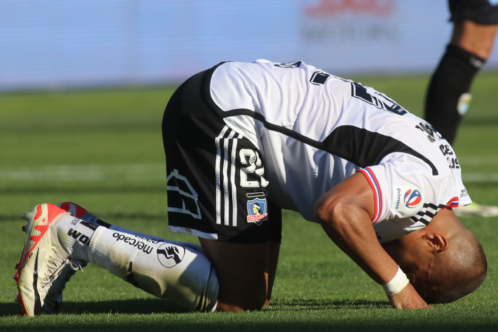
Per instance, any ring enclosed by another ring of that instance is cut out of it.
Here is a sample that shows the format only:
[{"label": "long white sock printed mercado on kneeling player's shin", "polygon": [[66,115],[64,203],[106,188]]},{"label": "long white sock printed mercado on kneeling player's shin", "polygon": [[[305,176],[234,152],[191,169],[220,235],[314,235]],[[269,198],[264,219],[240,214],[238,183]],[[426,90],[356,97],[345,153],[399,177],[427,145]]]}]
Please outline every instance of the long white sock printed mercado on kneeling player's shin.
[{"label": "long white sock printed mercado on kneeling player's shin", "polygon": [[161,299],[214,311],[219,286],[209,259],[194,244],[152,238],[98,227],[88,260]]}]

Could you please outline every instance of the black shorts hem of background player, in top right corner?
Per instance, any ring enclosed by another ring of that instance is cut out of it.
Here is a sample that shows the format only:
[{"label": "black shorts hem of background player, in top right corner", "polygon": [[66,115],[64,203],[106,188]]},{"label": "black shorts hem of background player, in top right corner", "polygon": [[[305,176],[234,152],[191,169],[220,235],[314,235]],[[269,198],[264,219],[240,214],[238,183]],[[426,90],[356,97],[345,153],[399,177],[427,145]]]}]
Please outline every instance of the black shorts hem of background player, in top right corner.
[{"label": "black shorts hem of background player, in top right corner", "polygon": [[489,0],[449,0],[450,21],[470,20],[477,24],[498,24],[498,6]]}]

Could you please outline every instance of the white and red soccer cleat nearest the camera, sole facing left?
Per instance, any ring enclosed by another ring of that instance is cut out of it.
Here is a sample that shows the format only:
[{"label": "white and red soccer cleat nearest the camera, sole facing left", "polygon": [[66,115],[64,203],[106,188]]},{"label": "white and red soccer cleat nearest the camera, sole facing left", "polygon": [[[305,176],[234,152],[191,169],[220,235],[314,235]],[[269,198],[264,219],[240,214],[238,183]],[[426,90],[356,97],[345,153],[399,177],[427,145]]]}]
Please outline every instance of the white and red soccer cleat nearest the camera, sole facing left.
[{"label": "white and red soccer cleat nearest the camera, sole facing left", "polygon": [[17,302],[24,315],[41,314],[53,281],[68,264],[77,265],[74,261],[70,263],[56,232],[57,224],[68,215],[55,205],[41,204],[23,216],[28,221],[22,227],[27,236],[14,279],[19,290]]}]

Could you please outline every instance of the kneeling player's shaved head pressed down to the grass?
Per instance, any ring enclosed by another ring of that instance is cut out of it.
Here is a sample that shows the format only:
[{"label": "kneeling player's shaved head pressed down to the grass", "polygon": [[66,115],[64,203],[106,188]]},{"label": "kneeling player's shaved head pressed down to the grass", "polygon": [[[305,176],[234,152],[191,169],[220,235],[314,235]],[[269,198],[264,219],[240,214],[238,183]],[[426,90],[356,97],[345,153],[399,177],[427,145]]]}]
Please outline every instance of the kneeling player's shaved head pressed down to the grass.
[{"label": "kneeling player's shaved head pressed down to the grass", "polygon": [[426,227],[383,246],[428,303],[458,300],[486,277],[481,243],[449,209],[441,210]]}]

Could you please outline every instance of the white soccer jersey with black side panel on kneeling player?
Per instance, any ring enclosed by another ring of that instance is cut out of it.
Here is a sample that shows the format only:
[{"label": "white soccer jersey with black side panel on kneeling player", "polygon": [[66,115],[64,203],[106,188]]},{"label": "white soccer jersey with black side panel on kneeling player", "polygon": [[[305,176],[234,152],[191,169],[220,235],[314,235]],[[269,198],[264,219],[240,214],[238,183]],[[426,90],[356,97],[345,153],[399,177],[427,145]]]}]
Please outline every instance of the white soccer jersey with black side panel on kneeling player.
[{"label": "white soccer jersey with black side panel on kneeling player", "polygon": [[448,142],[372,88],[302,61],[256,60],[220,65],[210,93],[226,124],[261,151],[270,199],[306,220],[357,171],[372,186],[382,242],[471,203]]}]

